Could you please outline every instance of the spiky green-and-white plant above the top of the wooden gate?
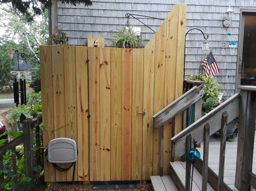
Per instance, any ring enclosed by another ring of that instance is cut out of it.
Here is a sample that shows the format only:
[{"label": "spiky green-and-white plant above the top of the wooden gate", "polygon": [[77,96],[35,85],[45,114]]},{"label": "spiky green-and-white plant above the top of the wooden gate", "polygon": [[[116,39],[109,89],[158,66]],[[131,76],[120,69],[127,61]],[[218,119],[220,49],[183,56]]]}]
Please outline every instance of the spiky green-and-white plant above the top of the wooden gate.
[{"label": "spiky green-and-white plant above the top of the wooden gate", "polygon": [[139,48],[142,40],[132,30],[132,27],[122,27],[110,38],[110,44],[116,48]]}]

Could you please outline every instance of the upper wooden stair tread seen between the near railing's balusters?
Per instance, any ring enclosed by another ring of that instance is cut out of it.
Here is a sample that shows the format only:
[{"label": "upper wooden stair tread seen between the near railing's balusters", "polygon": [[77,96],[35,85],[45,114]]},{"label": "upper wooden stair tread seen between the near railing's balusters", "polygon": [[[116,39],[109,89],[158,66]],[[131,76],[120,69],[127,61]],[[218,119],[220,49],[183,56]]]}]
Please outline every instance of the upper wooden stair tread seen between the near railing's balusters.
[{"label": "upper wooden stair tread seen between the near railing's balusters", "polygon": [[[186,182],[186,162],[175,161],[170,162],[171,164],[171,171],[172,177],[175,180],[176,185],[182,184],[182,187],[185,187]],[[191,167],[192,168],[192,167]],[[191,169],[192,172],[192,169]],[[178,182],[179,181],[179,182]],[[192,184],[192,191],[201,191],[202,190],[202,175],[194,168],[194,175],[193,175],[193,184]],[[214,191],[213,188],[207,185],[207,191]]]}]

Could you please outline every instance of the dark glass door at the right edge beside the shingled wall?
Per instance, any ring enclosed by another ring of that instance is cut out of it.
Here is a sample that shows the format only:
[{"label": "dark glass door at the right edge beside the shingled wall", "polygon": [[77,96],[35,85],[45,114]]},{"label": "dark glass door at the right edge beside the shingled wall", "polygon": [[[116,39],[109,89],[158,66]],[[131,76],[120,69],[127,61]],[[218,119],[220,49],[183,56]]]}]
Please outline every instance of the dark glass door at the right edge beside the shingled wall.
[{"label": "dark glass door at the right edge beside the shingled wall", "polygon": [[243,16],[243,54],[239,68],[241,85],[256,85],[256,13],[245,13]]}]

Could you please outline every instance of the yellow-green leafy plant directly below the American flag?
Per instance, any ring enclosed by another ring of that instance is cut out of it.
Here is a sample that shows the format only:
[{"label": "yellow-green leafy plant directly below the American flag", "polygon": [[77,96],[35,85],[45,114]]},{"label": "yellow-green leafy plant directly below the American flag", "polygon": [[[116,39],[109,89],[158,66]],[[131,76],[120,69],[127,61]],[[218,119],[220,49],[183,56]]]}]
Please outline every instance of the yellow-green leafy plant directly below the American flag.
[{"label": "yellow-green leafy plant directly below the American flag", "polygon": [[221,87],[213,77],[207,77],[204,75],[191,75],[186,80],[202,81],[204,85],[204,96],[202,104],[203,115],[207,114],[214,108],[214,105],[220,104],[219,101],[219,88]]}]

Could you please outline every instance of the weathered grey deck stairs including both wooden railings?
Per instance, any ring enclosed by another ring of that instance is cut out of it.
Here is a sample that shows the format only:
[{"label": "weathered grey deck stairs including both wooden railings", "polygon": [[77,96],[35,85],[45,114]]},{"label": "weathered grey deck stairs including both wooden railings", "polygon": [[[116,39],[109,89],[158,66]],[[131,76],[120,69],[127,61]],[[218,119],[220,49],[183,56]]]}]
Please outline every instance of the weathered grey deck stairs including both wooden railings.
[{"label": "weathered grey deck stairs including both wooden railings", "polygon": [[[186,109],[190,104],[195,105],[201,99],[202,85],[193,87],[181,97],[176,99],[170,105],[164,107],[153,116],[154,128],[161,130],[161,143],[163,145],[163,125],[172,120],[172,158],[170,162],[169,181],[165,182],[165,176],[152,176],[152,187],[154,191],[191,191],[190,183],[192,181],[192,191],[250,191],[256,188],[256,174],[253,172],[253,154],[255,142],[255,119],[256,119],[256,86],[239,86],[241,93],[237,93],[215,107],[208,114],[195,120],[194,123],[186,127],[187,113]],[[191,97],[199,95],[191,103]],[[189,99],[188,99],[189,98]],[[201,105],[201,104],[200,104]],[[183,111],[183,130],[173,136],[175,131],[175,116]],[[198,111],[194,112],[195,117]],[[225,150],[227,137],[227,124],[233,119],[239,117],[240,127],[238,129],[237,157],[235,170],[235,185],[229,187],[224,182],[225,170]],[[208,166],[209,164],[209,137],[216,131],[221,133],[220,155],[218,175]],[[192,148],[192,142],[203,142],[203,161],[193,163],[190,160],[186,162],[175,161],[175,157],[182,157]],[[163,174],[163,146],[161,146],[160,164]],[[191,172],[193,180],[191,180]],[[199,170],[199,171],[198,171]],[[192,173],[193,173],[192,172]],[[167,176],[168,177],[168,176]],[[166,185],[171,185],[167,187]]]}]

